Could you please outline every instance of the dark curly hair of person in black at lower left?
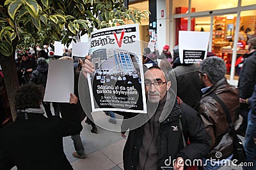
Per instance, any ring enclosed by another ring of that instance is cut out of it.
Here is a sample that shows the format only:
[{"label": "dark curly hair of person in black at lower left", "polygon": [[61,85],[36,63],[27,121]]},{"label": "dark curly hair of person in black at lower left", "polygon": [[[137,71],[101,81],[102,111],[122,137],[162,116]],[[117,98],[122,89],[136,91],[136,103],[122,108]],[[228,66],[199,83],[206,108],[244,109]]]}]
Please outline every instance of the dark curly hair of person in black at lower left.
[{"label": "dark curly hair of person in black at lower left", "polygon": [[15,93],[15,109],[40,108],[44,97],[41,85],[23,85]]}]

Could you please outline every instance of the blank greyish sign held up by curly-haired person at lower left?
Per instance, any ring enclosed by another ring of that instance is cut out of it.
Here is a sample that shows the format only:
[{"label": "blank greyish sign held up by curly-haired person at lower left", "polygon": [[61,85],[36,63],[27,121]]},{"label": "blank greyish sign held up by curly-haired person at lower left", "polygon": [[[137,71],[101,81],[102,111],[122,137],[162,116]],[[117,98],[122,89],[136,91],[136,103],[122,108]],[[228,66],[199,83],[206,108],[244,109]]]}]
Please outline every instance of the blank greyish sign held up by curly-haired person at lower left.
[{"label": "blank greyish sign held up by curly-haired person at lower left", "polygon": [[74,93],[73,60],[49,60],[45,102],[69,103]]}]

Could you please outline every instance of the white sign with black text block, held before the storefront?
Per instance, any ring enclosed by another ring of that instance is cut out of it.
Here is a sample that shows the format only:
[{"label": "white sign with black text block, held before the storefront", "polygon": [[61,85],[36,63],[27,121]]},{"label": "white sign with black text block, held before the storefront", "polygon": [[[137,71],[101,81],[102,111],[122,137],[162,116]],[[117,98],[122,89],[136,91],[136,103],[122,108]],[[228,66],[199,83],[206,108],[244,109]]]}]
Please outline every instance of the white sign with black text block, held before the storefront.
[{"label": "white sign with black text block, held before the storefront", "polygon": [[179,31],[180,62],[200,62],[207,55],[210,32]]}]

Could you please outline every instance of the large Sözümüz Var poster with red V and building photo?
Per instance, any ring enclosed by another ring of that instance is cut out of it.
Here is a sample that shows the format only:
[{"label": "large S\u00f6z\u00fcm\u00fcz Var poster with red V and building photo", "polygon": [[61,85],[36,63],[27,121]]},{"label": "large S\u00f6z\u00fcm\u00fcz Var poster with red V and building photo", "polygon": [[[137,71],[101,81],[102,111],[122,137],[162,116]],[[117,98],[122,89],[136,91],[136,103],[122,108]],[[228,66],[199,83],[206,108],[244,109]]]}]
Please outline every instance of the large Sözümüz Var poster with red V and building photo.
[{"label": "large S\u00f6z\u00fcm\u00fcz Var poster with red V and building photo", "polygon": [[138,24],[92,32],[88,74],[92,111],[146,113],[145,86]]}]

